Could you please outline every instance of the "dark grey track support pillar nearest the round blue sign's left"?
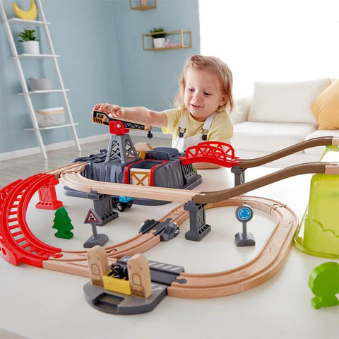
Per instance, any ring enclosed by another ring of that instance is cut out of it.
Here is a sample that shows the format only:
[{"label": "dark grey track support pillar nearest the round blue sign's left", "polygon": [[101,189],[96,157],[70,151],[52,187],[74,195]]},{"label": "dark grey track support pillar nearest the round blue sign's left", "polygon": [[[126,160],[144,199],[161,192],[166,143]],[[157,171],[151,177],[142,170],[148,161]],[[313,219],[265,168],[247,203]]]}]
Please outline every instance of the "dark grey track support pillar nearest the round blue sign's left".
[{"label": "dark grey track support pillar nearest the round blue sign's left", "polygon": [[196,204],[194,201],[188,201],[184,205],[184,210],[189,211],[189,231],[185,238],[200,242],[203,237],[210,232],[210,225],[206,224],[206,203]]}]

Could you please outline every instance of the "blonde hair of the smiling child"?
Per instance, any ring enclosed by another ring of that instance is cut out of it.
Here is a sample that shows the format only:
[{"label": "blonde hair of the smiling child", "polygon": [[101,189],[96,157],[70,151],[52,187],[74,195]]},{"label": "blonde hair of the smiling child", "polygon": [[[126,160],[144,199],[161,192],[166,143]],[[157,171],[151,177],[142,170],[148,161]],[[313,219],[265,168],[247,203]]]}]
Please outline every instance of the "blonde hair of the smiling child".
[{"label": "blonde hair of the smiling child", "polygon": [[218,107],[217,112],[226,109],[226,107],[232,110],[234,106],[233,95],[232,95],[232,85],[233,77],[230,67],[225,64],[221,59],[216,57],[205,57],[203,55],[192,55],[186,61],[184,69],[179,79],[179,91],[174,99],[174,107],[184,107],[184,93],[186,88],[186,73],[189,67],[194,67],[194,69],[199,69],[203,71],[209,71],[217,76],[222,95],[227,97],[227,100],[224,105]]}]

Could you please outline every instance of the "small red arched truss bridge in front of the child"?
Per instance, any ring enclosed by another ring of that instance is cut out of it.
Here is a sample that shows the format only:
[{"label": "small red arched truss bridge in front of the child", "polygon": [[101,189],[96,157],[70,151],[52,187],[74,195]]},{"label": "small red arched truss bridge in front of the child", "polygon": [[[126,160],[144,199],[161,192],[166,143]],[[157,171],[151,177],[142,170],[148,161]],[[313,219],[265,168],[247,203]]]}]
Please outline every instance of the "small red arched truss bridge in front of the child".
[{"label": "small red arched truss bridge in front of the child", "polygon": [[182,163],[192,164],[194,162],[210,162],[223,167],[233,167],[241,159],[234,156],[234,148],[228,143],[218,141],[206,141],[187,148]]}]

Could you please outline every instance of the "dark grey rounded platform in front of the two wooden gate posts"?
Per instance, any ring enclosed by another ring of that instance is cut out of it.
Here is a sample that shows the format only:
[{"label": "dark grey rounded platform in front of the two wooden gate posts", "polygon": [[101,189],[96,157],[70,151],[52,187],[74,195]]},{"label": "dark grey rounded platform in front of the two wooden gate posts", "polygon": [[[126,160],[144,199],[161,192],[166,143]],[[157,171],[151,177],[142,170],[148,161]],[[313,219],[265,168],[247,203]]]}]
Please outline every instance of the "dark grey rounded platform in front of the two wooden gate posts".
[{"label": "dark grey rounded platform in front of the two wooden gate posts", "polygon": [[85,299],[90,306],[111,314],[140,314],[152,311],[167,295],[167,286],[152,283],[148,299],[105,290],[88,282],[83,286]]}]

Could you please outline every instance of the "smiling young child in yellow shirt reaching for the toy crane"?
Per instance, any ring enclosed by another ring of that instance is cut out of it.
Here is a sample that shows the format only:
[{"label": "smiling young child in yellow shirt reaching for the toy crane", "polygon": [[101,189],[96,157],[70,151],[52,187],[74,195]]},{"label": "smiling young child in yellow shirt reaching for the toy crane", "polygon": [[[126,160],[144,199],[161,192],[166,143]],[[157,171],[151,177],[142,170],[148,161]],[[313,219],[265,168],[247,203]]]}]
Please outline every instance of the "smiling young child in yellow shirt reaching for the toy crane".
[{"label": "smiling young child in yellow shirt reaching for the toy crane", "polygon": [[162,112],[109,104],[97,104],[93,109],[113,118],[162,127],[164,133],[172,134],[172,147],[179,153],[203,141],[230,143],[233,126],[228,114],[233,97],[227,64],[215,57],[191,56],[184,66],[175,103],[179,108]]}]

